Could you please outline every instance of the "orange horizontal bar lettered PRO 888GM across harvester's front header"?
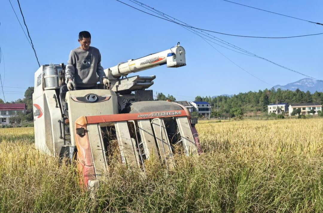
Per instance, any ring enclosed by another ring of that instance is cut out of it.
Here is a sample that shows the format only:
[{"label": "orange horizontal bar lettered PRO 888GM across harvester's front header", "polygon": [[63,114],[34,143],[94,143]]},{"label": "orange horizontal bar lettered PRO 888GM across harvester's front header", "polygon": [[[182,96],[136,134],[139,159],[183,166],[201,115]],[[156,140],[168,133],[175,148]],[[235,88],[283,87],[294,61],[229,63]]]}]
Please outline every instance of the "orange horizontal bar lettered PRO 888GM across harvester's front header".
[{"label": "orange horizontal bar lettered PRO 888GM across harvester's front header", "polygon": [[152,118],[169,118],[187,116],[185,110],[172,110],[172,111],[158,111],[158,112],[141,112],[141,113],[126,113],[114,115],[99,115],[99,116],[86,116],[88,124],[107,123],[116,121],[127,120],[142,120]]}]

